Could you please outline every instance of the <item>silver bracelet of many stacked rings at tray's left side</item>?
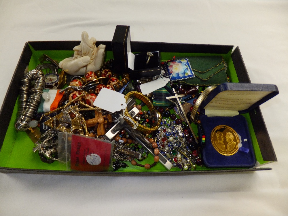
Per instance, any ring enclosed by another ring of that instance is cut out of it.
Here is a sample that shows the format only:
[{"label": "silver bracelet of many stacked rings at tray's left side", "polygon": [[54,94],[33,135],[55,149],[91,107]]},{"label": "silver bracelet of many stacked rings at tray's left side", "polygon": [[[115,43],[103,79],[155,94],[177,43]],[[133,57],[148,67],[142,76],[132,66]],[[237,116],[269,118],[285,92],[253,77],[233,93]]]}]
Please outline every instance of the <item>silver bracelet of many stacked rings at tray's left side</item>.
[{"label": "silver bracelet of many stacked rings at tray's left side", "polygon": [[[35,80],[35,84],[31,89],[33,80]],[[25,131],[29,122],[34,118],[41,101],[43,88],[45,87],[44,73],[38,69],[28,71],[24,73],[21,83],[22,86],[19,93],[20,108],[15,128],[19,131]]]}]

